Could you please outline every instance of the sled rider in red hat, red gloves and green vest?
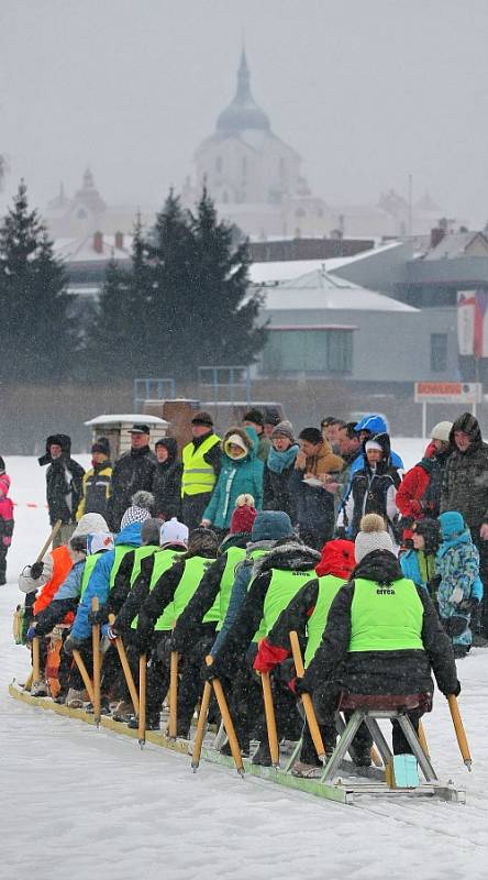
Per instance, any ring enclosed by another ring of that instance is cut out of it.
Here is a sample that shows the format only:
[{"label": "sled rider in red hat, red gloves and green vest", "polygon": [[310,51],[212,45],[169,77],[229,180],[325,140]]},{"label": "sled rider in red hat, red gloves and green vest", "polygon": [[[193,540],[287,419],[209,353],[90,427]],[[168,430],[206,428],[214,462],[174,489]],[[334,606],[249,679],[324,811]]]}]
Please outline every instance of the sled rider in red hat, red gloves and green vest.
[{"label": "sled rider in red hat, red gloves and green vest", "polygon": [[[289,634],[298,634],[304,649],[304,666],[309,666],[322,639],[329,608],[355,565],[354,543],[345,539],[328,541],[322,548],[322,557],[315,566],[315,578],[309,581],[281,612],[275,626],[259,644],[254,669],[262,672],[275,670],[274,678],[284,681],[295,692],[295,664],[291,659]],[[278,667],[278,668],[277,668]],[[324,743],[335,741],[335,723],[332,730],[321,729]],[[366,730],[367,734],[367,730]],[[359,740],[359,741],[357,741]],[[370,737],[355,738],[355,760],[361,766],[370,763]],[[295,765],[293,776],[313,777],[315,768],[321,767],[307,723],[303,726],[300,761]]]}]

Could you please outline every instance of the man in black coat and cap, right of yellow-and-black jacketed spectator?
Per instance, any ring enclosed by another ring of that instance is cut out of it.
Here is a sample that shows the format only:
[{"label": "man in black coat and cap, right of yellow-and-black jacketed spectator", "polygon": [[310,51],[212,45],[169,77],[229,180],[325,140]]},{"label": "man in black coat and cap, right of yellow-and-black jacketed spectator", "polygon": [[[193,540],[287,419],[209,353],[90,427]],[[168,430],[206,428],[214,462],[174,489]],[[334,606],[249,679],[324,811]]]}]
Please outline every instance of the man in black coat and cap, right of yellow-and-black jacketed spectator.
[{"label": "man in black coat and cap, right of yellow-and-black jacketed spectator", "polygon": [[120,531],[121,519],[134,492],[153,491],[157,460],[149,448],[149,427],[134,425],[130,435],[131,449],[120,457],[112,471],[108,503],[108,524],[112,531]]}]

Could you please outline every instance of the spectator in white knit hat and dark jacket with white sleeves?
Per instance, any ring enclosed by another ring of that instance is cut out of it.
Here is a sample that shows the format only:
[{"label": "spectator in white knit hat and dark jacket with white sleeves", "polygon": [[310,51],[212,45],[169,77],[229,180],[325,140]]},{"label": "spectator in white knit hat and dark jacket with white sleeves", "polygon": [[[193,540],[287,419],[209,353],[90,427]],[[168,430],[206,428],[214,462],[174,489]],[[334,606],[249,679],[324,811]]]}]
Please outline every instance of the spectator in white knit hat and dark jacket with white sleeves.
[{"label": "spectator in white knit hat and dark jacket with white sleeves", "polygon": [[353,475],[350,494],[339,513],[337,531],[354,539],[363,514],[379,514],[396,540],[400,475],[391,464],[390,438],[377,433],[365,440],[363,450],[363,468]]}]

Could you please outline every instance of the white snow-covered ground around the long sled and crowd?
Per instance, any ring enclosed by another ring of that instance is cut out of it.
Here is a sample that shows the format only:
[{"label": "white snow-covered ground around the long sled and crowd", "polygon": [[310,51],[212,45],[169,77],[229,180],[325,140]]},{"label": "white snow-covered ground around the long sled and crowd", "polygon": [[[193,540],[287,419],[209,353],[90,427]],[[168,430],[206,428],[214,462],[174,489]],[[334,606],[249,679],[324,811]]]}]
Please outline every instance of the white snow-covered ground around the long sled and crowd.
[{"label": "white snow-covered ground around the long sled and crowd", "polygon": [[[411,466],[422,442],[393,448]],[[342,806],[204,763],[193,776],[182,756],[141,751],[134,740],[9,697],[9,682],[29,670],[26,649],[11,637],[15,579],[38,552],[47,516],[44,471],[33,459],[7,464],[19,507],[9,584],[0,587],[2,880],[86,880],[92,872],[100,880],[486,878],[488,650],[459,663],[472,774],[441,695],[424,719],[437,772],[467,789],[465,805],[365,799]]]}]

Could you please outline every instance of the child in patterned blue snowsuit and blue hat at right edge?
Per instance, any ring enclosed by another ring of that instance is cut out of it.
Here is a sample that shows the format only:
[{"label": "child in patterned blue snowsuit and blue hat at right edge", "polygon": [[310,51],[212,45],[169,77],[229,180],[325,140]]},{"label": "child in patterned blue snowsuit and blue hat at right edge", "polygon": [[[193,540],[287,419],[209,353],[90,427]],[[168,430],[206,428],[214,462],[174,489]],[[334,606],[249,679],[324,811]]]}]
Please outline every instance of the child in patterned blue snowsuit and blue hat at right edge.
[{"label": "child in patterned blue snowsuit and blue hat at right edge", "polygon": [[437,574],[441,578],[439,615],[451,637],[454,656],[461,658],[466,657],[472,647],[472,610],[475,603],[483,598],[479,553],[463,516],[457,510],[441,514],[439,525],[442,536],[436,559]]}]

